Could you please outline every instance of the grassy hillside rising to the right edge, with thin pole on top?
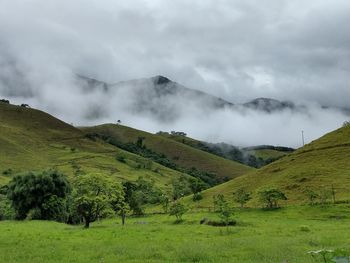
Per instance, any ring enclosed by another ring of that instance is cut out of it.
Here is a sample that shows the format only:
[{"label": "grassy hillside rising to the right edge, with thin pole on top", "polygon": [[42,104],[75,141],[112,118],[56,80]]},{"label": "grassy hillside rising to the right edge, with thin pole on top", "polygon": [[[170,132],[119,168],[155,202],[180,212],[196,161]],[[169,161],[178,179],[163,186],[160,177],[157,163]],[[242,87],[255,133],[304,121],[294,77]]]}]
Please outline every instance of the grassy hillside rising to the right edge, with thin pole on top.
[{"label": "grassy hillside rising to the right edge, with thin pole on top", "polygon": [[343,127],[313,141],[282,159],[257,171],[204,192],[197,205],[209,206],[212,196],[222,193],[232,200],[232,193],[245,188],[253,193],[250,205],[258,205],[257,192],[269,187],[282,189],[287,203],[306,203],[305,191],[329,195],[332,187],[336,200],[350,199],[350,127]]}]

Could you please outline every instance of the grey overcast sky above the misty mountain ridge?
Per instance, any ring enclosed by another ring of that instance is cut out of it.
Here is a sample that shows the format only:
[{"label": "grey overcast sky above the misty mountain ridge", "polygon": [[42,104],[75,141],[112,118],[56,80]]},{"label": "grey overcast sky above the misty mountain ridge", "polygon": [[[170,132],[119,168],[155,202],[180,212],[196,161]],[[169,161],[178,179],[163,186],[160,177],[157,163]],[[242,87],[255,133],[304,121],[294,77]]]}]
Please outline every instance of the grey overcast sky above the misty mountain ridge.
[{"label": "grey overcast sky above the misty mountain ridge", "polygon": [[349,107],[349,25],[349,0],[0,0],[0,95],[165,75],[232,102]]}]

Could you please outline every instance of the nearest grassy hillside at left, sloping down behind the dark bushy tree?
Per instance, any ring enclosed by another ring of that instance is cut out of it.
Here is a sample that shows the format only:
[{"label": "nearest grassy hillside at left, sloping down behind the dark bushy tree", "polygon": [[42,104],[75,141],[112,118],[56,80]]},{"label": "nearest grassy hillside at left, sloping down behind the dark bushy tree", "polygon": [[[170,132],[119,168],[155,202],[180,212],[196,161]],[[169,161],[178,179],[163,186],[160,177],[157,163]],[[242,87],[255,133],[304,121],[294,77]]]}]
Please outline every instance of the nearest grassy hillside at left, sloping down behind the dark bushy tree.
[{"label": "nearest grassy hillside at left, sloping down behind the dark bushy tree", "polygon": [[[117,161],[123,155],[125,162]],[[147,169],[143,168],[147,163]],[[0,103],[0,184],[18,172],[56,168],[69,176],[97,172],[118,180],[152,179],[165,187],[181,173],[85,137],[79,129],[35,109]]]}]

